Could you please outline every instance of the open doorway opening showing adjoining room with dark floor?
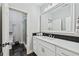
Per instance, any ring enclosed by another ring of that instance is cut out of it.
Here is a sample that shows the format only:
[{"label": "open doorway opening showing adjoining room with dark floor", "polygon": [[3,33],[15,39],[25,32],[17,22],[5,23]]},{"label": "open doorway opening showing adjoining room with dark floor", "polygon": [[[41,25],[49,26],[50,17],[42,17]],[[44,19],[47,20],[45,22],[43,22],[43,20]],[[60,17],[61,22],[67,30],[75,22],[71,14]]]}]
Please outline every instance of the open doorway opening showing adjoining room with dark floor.
[{"label": "open doorway opening showing adjoining room with dark floor", "polygon": [[[9,8],[9,39],[13,45],[10,47],[10,54],[25,55],[23,49],[27,48],[27,13]],[[14,49],[14,51],[12,50]],[[17,50],[15,52],[15,50]],[[21,50],[21,51],[20,51]],[[25,51],[24,51],[25,52]],[[22,54],[23,53],[23,54]]]}]

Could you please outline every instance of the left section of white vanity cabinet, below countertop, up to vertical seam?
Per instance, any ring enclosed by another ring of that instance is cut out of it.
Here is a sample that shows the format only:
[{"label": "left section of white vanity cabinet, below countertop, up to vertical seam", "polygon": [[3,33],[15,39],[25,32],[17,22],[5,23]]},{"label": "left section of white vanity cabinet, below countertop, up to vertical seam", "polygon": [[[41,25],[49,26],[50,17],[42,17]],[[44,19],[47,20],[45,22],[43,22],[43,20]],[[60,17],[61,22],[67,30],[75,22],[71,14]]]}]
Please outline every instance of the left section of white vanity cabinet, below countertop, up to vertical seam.
[{"label": "left section of white vanity cabinet, below countertop, up to vertical seam", "polygon": [[55,56],[55,45],[40,40],[39,38],[33,38],[33,51],[38,56]]}]

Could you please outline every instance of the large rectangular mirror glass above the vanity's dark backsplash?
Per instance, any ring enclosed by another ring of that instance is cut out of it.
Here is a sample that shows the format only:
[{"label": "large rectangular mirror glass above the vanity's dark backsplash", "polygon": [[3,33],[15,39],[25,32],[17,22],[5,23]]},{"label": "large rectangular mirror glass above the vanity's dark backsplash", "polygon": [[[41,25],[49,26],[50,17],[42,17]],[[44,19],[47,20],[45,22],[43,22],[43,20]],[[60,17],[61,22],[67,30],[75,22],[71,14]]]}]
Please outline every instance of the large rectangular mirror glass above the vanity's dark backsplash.
[{"label": "large rectangular mirror glass above the vanity's dark backsplash", "polygon": [[41,32],[72,32],[72,4],[52,7],[41,14]]}]

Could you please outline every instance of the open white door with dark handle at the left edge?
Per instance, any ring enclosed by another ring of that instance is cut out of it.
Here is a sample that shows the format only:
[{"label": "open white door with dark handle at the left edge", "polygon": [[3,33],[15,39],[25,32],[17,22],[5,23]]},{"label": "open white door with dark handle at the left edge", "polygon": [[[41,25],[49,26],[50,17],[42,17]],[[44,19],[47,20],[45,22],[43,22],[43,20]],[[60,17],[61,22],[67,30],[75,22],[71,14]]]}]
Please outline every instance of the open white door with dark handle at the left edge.
[{"label": "open white door with dark handle at the left edge", "polygon": [[[2,4],[2,44],[9,42],[9,8]],[[9,56],[9,45],[2,47],[3,56]]]}]

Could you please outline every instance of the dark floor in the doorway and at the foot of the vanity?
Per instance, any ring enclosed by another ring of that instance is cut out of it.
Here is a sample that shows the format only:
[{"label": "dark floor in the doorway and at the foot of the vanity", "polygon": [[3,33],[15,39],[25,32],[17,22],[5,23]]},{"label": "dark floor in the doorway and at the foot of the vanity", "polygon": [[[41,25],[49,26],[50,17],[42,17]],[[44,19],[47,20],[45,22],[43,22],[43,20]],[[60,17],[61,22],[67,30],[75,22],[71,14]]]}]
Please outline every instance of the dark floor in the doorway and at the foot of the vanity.
[{"label": "dark floor in the doorway and at the foot of the vanity", "polygon": [[23,44],[17,44],[12,46],[10,56],[36,56],[36,54],[33,52],[27,55],[27,49],[25,46]]}]

